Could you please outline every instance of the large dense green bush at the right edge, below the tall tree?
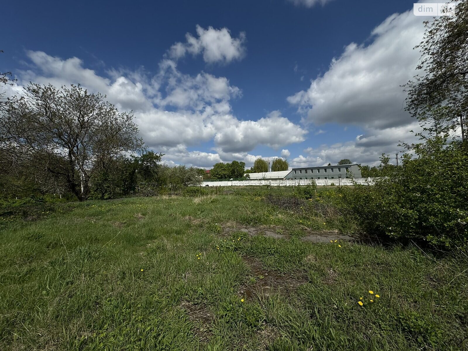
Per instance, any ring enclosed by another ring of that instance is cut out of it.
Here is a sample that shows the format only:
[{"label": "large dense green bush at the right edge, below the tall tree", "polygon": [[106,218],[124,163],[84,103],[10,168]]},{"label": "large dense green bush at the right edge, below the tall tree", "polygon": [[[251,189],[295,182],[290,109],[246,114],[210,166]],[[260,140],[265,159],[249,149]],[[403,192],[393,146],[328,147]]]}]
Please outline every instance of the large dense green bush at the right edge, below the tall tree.
[{"label": "large dense green bush at the right edge, below the tall tree", "polygon": [[[346,208],[375,234],[468,247],[468,156],[460,143],[434,138],[414,145],[411,159],[375,186],[340,189]],[[384,158],[380,168],[385,168]]]}]

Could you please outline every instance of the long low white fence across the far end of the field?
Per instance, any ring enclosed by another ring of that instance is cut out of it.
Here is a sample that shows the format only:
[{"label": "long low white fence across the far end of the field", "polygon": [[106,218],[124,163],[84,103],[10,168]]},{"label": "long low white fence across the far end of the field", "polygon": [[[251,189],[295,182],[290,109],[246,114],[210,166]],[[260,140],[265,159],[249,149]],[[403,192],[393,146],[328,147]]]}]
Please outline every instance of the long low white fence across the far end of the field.
[{"label": "long low white fence across the far end of the field", "polygon": [[321,185],[373,185],[374,178],[337,178],[337,179],[250,179],[250,180],[227,180],[221,182],[203,182],[206,186],[233,186],[233,185],[308,185],[315,182],[317,186]]}]

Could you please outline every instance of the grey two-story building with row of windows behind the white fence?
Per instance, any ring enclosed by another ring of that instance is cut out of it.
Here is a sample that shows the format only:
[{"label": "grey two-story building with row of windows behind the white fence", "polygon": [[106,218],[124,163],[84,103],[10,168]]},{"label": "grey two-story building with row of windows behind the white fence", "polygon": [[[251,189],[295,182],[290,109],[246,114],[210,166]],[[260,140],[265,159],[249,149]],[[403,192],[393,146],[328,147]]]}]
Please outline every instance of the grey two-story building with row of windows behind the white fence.
[{"label": "grey two-story building with row of windows behind the white fence", "polygon": [[286,179],[338,179],[361,178],[361,169],[358,164],[292,168]]}]

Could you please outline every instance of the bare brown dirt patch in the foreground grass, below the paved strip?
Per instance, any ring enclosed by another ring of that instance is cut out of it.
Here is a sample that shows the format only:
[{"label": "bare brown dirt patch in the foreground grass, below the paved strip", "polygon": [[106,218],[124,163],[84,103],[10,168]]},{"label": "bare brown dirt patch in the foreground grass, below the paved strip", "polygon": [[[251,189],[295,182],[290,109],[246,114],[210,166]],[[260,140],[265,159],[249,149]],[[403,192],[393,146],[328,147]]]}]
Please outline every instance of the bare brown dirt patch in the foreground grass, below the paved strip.
[{"label": "bare brown dirt patch in the foreground grass, below the paved strip", "polygon": [[279,273],[264,268],[262,263],[253,257],[243,257],[243,260],[250,268],[250,277],[244,285],[241,285],[238,294],[246,299],[277,293],[288,294],[307,283],[307,277],[301,271]]}]

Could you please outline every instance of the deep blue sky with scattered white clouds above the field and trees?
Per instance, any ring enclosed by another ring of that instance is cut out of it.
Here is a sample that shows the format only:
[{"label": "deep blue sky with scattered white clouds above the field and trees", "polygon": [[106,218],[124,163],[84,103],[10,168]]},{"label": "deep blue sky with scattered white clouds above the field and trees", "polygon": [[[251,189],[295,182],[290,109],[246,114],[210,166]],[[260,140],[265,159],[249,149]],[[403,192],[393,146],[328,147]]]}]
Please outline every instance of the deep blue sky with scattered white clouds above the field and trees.
[{"label": "deep blue sky with scattered white clouds above the field and trees", "polygon": [[376,164],[411,140],[410,1],[10,1],[0,72],[133,110],[169,164]]}]

